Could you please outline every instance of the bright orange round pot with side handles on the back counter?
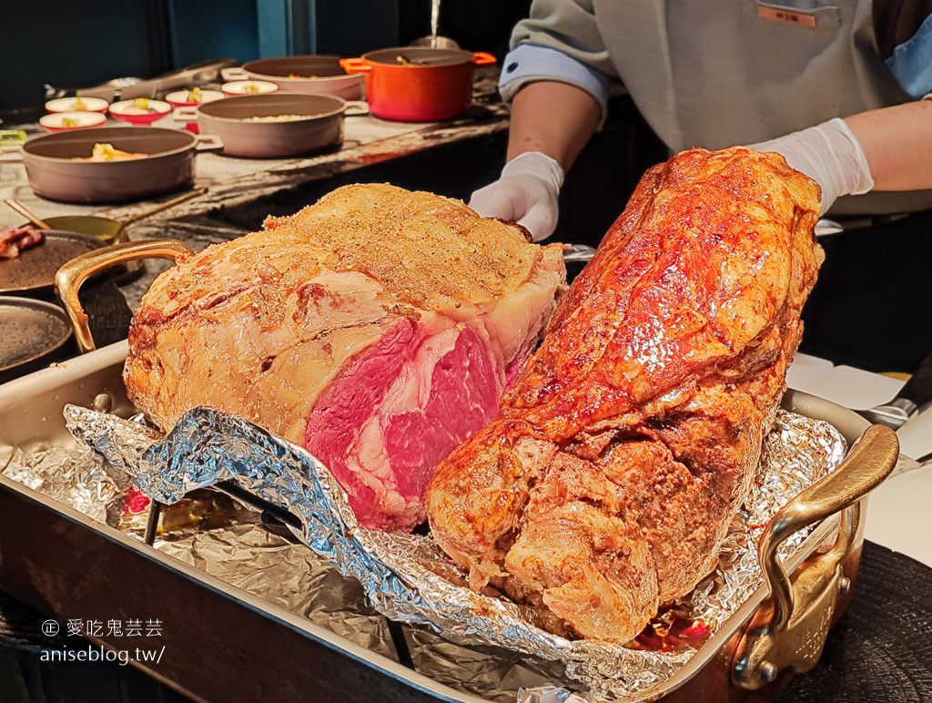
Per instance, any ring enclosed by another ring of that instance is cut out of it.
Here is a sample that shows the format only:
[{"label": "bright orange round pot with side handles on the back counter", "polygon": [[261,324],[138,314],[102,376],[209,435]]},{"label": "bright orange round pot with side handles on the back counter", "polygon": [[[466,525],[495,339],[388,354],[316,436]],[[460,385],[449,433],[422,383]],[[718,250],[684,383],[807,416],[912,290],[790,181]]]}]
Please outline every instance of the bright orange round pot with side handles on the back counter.
[{"label": "bright orange round pot with side handles on the back counter", "polygon": [[495,63],[483,51],[427,47],[383,48],[341,59],[347,73],[362,73],[369,111],[400,122],[457,117],[473,104],[473,69]]}]

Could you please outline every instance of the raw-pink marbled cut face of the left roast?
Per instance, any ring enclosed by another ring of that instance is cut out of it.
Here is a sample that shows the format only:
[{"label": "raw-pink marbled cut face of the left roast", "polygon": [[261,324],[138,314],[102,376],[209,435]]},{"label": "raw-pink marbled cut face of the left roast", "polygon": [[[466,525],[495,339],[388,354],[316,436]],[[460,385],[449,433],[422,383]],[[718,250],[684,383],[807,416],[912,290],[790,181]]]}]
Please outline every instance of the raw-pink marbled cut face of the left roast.
[{"label": "raw-pink marbled cut face of the left roast", "polygon": [[360,525],[410,531],[433,467],[495,416],[503,369],[469,327],[394,324],[356,354],[308,415],[306,447],[349,495]]}]

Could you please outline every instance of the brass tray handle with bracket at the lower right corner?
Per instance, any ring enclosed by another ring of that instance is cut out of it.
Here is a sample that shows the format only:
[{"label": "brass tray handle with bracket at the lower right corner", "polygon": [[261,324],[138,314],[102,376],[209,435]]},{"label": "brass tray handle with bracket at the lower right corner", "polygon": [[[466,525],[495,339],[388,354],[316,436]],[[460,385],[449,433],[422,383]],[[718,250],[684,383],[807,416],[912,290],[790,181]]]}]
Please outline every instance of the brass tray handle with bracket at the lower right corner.
[{"label": "brass tray handle with bracket at the lower right corner", "polygon": [[[816,666],[839,600],[851,588],[843,561],[862,533],[861,501],[890,475],[898,453],[897,434],[871,425],[835,471],[803,490],[771,519],[758,545],[771,598],[761,604],[735,649],[736,686],[752,691],[786,669],[802,673]],[[790,578],[777,556],[780,544],[839,511],[843,513],[835,544],[828,552],[806,559]]]}]

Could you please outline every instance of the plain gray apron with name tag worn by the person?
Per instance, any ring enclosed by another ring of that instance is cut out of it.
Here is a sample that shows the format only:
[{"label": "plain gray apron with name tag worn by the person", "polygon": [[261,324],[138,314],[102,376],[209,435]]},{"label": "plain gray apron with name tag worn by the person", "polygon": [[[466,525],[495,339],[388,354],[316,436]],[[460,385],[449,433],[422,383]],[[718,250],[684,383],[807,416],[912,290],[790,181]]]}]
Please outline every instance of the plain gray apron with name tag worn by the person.
[{"label": "plain gray apron with name tag worn by the person", "polygon": [[[912,100],[877,54],[868,0],[593,0],[593,8],[625,88],[675,151],[754,144]],[[843,198],[831,213],[930,207],[932,191],[873,192]]]}]

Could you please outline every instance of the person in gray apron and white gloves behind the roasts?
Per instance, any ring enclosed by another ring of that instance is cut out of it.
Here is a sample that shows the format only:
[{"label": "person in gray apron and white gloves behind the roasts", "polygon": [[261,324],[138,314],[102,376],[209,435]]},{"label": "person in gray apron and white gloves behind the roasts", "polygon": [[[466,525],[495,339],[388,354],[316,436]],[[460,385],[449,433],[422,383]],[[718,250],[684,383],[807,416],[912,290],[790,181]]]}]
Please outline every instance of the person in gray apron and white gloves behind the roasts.
[{"label": "person in gray apron and white gloves behind the roasts", "polygon": [[748,145],[814,178],[859,228],[822,239],[803,351],[911,371],[932,351],[932,2],[777,2],[535,0],[502,62],[507,163],[470,206],[549,236],[620,81],[671,153]]}]

